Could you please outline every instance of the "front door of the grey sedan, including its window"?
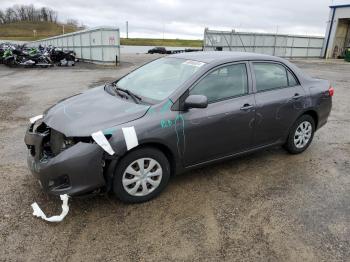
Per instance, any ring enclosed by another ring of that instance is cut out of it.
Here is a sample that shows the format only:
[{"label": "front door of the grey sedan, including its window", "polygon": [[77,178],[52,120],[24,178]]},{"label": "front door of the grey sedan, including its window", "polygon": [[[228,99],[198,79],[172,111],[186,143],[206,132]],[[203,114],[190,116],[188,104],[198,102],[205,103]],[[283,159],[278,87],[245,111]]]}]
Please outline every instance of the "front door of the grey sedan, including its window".
[{"label": "front door of the grey sedan, including its window", "polygon": [[183,114],[185,166],[251,147],[255,101],[250,83],[248,63],[241,62],[212,70],[190,89],[190,95],[205,95],[209,104]]}]

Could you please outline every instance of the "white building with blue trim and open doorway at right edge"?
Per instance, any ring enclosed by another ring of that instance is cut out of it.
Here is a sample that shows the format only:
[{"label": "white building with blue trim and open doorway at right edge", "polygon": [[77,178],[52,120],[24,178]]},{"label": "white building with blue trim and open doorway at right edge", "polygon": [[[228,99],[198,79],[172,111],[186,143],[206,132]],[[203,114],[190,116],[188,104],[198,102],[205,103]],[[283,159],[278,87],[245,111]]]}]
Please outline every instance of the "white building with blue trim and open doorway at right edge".
[{"label": "white building with blue trim and open doorway at right edge", "polygon": [[323,45],[325,58],[337,58],[350,47],[350,4],[330,6]]}]

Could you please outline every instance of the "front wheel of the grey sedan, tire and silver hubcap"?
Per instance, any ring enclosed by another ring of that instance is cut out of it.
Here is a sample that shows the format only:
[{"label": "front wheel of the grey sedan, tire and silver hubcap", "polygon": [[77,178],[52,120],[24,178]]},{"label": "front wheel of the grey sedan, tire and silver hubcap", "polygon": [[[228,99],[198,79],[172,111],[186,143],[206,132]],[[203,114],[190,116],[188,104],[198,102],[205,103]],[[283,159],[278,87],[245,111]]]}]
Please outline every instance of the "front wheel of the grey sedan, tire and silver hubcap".
[{"label": "front wheel of the grey sedan, tire and silver hubcap", "polygon": [[[141,171],[142,163],[145,172]],[[158,149],[140,148],[131,151],[118,163],[113,192],[125,203],[141,203],[156,197],[167,186],[169,178],[167,157]],[[144,185],[147,190],[144,190]]]}]

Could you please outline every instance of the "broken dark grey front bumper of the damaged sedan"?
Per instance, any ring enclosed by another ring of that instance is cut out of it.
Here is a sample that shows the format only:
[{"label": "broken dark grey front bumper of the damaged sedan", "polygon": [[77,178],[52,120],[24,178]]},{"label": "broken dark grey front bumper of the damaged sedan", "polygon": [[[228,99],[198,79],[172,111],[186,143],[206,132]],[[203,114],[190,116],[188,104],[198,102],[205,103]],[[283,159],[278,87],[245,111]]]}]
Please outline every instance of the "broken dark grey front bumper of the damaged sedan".
[{"label": "broken dark grey front bumper of the damaged sedan", "polygon": [[[96,143],[77,142],[58,154],[48,154],[50,128],[31,123],[25,135],[28,167],[43,190],[52,195],[91,193],[104,187],[103,150]],[[44,146],[45,145],[45,146]]]}]

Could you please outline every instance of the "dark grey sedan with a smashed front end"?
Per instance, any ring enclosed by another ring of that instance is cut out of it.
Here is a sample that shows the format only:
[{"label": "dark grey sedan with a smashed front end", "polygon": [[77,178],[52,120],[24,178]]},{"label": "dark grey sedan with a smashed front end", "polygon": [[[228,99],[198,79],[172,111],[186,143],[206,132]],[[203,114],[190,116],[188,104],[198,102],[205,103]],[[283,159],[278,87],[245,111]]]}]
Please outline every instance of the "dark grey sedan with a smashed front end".
[{"label": "dark grey sedan with a smashed front end", "polygon": [[333,92],[277,57],[170,55],[33,117],[28,165],[50,194],[143,202],[191,168],[276,145],[303,152]]}]

